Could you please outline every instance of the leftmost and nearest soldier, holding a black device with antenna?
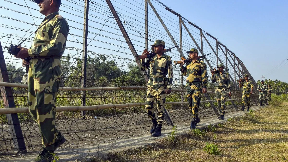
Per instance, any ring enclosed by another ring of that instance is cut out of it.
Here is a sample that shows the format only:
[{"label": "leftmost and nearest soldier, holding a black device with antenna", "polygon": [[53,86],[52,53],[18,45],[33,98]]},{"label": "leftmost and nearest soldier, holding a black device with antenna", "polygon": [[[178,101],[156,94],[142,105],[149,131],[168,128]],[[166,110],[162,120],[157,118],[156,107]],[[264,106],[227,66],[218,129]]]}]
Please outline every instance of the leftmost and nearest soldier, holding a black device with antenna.
[{"label": "leftmost and nearest soldier, holding a black device with antenna", "polygon": [[[33,119],[39,125],[43,151],[34,161],[52,161],[57,147],[66,140],[55,125],[56,97],[61,77],[60,58],[65,50],[69,26],[58,14],[61,0],[34,0],[40,13],[46,17],[36,32],[30,49],[20,48],[17,58],[29,66],[28,106]],[[43,25],[43,26],[42,26]],[[31,58],[30,62],[24,58]]]}]

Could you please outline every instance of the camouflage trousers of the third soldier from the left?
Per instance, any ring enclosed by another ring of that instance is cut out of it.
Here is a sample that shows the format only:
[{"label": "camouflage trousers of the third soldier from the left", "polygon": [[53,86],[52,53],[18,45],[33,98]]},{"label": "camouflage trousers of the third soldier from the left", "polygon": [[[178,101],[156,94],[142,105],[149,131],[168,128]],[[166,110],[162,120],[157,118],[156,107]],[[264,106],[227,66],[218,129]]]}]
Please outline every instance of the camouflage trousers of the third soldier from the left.
[{"label": "camouflage trousers of the third soldier from the left", "polygon": [[189,83],[186,84],[186,94],[187,94],[187,101],[188,101],[188,107],[192,113],[192,117],[196,118],[198,117],[198,108],[201,101],[201,93],[202,93],[202,84],[196,84],[196,85],[189,85]]}]

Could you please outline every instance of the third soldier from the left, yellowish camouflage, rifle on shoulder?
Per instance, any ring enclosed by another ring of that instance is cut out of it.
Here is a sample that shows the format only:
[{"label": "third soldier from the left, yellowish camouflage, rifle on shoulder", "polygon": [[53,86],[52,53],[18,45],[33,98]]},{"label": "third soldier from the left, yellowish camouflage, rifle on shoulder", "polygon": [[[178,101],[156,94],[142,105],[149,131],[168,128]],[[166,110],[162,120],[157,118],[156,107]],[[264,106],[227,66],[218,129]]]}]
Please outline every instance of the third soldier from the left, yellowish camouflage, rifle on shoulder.
[{"label": "third soldier from the left, yellowish camouflage, rifle on shoulder", "polygon": [[207,71],[206,64],[203,61],[198,60],[198,50],[192,48],[190,51],[187,51],[189,54],[189,59],[192,59],[190,63],[184,67],[184,61],[180,64],[180,71],[183,75],[187,75],[186,79],[186,93],[187,101],[189,103],[189,109],[192,112],[192,121],[190,129],[195,129],[196,124],[200,122],[198,117],[198,108],[201,101],[201,92],[207,92]]}]

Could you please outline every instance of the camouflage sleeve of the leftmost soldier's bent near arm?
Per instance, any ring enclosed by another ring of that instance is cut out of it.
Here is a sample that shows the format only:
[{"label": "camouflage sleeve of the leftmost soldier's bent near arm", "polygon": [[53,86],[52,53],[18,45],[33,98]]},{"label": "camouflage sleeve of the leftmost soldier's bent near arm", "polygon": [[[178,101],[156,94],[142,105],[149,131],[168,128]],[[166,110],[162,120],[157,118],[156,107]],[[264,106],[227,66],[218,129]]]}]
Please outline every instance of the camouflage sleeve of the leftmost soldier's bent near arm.
[{"label": "camouflage sleeve of the leftmost soldier's bent near arm", "polygon": [[[57,19],[53,25],[50,43],[28,49],[29,56],[54,56],[65,50],[69,26],[65,19]],[[48,33],[49,34],[49,33]]]}]

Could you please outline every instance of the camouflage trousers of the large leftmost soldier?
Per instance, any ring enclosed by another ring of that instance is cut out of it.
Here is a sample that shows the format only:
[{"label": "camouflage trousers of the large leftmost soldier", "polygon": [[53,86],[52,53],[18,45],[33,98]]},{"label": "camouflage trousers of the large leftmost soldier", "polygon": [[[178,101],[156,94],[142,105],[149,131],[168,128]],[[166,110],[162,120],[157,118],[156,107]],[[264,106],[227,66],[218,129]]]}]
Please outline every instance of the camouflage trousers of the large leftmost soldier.
[{"label": "camouflage trousers of the large leftmost soldier", "polygon": [[59,133],[55,125],[55,108],[61,69],[60,59],[30,60],[29,112],[39,125],[42,144],[46,150],[54,150],[54,143]]}]

